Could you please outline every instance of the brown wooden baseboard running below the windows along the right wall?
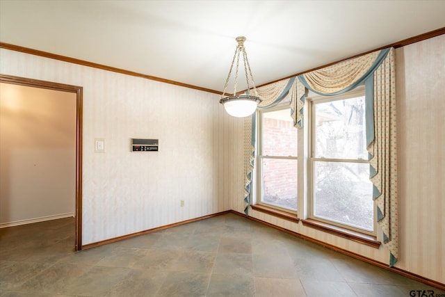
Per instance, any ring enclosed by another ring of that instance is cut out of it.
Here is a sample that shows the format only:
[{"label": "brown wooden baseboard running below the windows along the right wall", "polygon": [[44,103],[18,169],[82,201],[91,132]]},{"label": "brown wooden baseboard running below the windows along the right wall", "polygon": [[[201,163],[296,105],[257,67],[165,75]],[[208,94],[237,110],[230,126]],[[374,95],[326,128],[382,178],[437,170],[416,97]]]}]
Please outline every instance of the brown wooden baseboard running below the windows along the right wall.
[{"label": "brown wooden baseboard running below the windows along the right wall", "polygon": [[282,232],[286,232],[287,234],[291,234],[293,236],[296,236],[296,237],[298,237],[300,239],[311,241],[311,242],[316,243],[316,244],[318,244],[320,246],[324,246],[325,248],[329,248],[330,250],[334,250],[336,252],[340,252],[343,255],[347,255],[347,256],[353,257],[354,259],[358,259],[358,260],[361,260],[363,262],[372,264],[374,266],[378,266],[380,268],[384,268],[384,269],[386,269],[388,271],[392,271],[394,273],[403,275],[406,278],[410,278],[412,280],[416,280],[417,282],[422,282],[423,284],[428,284],[428,286],[435,287],[437,289],[445,290],[445,284],[442,284],[442,282],[437,282],[436,280],[430,280],[429,278],[425,278],[425,277],[423,277],[421,275],[417,275],[417,274],[412,273],[410,271],[405,271],[405,270],[403,270],[401,268],[398,268],[398,267],[389,267],[388,264],[375,261],[374,259],[371,259],[371,258],[368,258],[368,257],[364,257],[362,255],[359,255],[359,254],[355,253],[355,252],[350,252],[349,250],[345,250],[345,249],[339,248],[337,246],[333,246],[330,243],[325,243],[323,241],[319,241],[318,239],[313,239],[312,237],[300,234],[298,232],[293,232],[293,231],[287,230],[287,229],[285,229],[283,227],[270,224],[270,223],[268,223],[268,222],[266,222],[264,220],[259,220],[258,218],[253,218],[252,216],[246,216],[245,214],[241,214],[238,211],[232,210],[231,212],[232,212],[232,214],[237,214],[238,216],[243,216],[243,217],[248,218],[250,220],[254,220],[254,221],[258,222],[258,223],[262,223],[264,225],[268,225],[268,226],[273,227],[273,228],[275,228],[277,230],[280,230]]}]

